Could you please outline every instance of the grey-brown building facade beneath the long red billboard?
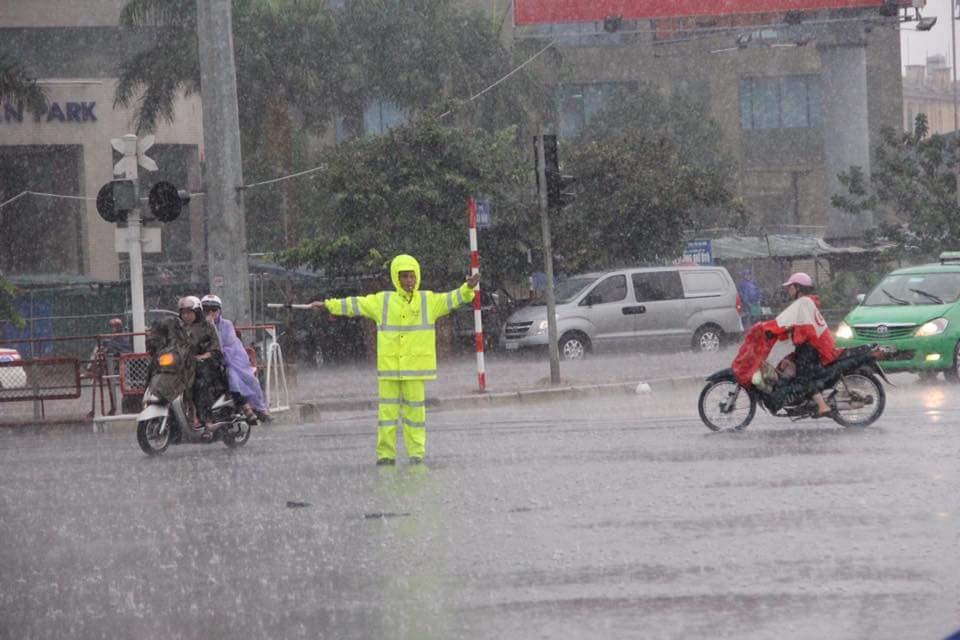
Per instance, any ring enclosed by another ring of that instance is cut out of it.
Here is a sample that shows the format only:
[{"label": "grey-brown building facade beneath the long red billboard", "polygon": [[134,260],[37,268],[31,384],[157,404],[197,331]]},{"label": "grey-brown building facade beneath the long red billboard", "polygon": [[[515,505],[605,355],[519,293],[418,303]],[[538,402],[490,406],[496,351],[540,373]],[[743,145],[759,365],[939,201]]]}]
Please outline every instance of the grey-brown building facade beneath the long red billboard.
[{"label": "grey-brown building facade beneath the long red billboard", "polygon": [[[705,101],[738,160],[736,191],[760,230],[855,240],[872,220],[834,209],[836,177],[869,171],[884,126],[903,118],[896,18],[876,8],[516,25],[503,2],[505,42],[553,40],[537,61],[555,95],[554,126],[575,137],[612,89],[652,83]],[[541,3],[543,4],[543,3]]]}]

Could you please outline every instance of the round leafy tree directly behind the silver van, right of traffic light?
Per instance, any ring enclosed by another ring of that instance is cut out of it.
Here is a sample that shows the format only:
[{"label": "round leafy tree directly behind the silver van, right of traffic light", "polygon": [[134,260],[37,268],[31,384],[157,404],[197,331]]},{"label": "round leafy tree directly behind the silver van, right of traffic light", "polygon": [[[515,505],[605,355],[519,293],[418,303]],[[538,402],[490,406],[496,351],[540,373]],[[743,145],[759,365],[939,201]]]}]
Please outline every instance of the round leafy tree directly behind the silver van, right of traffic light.
[{"label": "round leafy tree directly behind the silver van, right of traffic light", "polygon": [[621,91],[567,154],[579,193],[553,223],[566,271],[663,262],[689,231],[745,222],[733,158],[701,102],[651,85]]}]

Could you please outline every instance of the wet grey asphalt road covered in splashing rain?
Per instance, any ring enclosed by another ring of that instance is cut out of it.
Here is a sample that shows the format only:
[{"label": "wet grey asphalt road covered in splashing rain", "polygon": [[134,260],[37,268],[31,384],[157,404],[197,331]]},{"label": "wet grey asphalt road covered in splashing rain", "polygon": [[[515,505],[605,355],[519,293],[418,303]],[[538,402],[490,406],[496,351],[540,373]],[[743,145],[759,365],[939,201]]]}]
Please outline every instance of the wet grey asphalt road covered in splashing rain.
[{"label": "wet grey asphalt road covered in splashing rain", "polygon": [[713,434],[693,391],[434,411],[421,467],[366,413],[160,459],[2,432],[0,637],[943,638],[960,394],[889,391],[862,432]]}]

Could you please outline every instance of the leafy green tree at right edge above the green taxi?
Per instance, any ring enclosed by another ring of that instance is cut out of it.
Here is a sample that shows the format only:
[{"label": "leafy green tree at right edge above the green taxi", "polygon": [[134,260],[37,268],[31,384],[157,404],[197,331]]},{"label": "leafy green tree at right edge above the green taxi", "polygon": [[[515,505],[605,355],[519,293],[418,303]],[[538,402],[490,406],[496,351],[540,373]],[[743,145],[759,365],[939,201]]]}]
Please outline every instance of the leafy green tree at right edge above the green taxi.
[{"label": "leafy green tree at right edge above the green taxi", "polygon": [[850,167],[839,176],[847,194],[835,195],[832,203],[849,213],[874,212],[880,220],[872,235],[893,241],[901,253],[957,249],[958,150],[957,138],[929,134],[925,114],[911,132],[885,128],[869,180],[862,168]]}]

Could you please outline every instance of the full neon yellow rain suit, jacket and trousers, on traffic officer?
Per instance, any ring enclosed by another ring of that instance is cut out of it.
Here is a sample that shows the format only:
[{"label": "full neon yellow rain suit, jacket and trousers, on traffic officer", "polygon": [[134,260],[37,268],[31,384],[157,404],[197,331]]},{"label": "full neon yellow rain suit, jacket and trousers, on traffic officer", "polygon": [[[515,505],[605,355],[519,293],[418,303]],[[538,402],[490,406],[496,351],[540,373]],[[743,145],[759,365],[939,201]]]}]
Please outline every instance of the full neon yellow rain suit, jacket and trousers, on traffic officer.
[{"label": "full neon yellow rain suit, jacket and trousers, on traffic officer", "polygon": [[[400,272],[413,271],[416,285],[408,293]],[[407,455],[422,459],[426,448],[424,380],[437,377],[436,321],[473,301],[466,283],[446,293],[420,290],[420,264],[408,255],[390,263],[395,291],[326,300],[334,315],[363,316],[377,323],[377,378],[380,381],[380,420],[377,458],[396,457],[396,429],[404,428]]]}]

